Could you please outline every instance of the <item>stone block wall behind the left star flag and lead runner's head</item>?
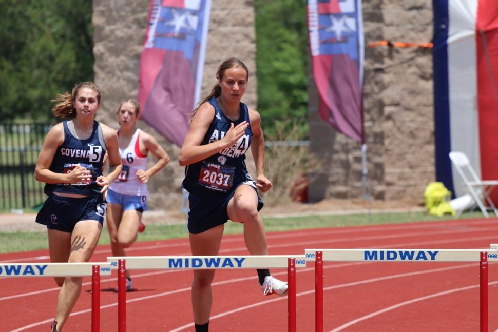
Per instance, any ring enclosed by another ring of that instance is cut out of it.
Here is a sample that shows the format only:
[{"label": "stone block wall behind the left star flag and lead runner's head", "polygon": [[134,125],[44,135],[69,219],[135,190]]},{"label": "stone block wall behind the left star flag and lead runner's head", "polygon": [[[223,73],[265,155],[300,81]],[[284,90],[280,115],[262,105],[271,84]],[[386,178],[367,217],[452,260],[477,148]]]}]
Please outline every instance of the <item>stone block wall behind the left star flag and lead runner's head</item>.
[{"label": "stone block wall behind the left star flag and lead runner's head", "polygon": [[[118,127],[116,111],[128,97],[137,98],[140,53],[147,27],[149,0],[93,0],[95,82],[102,90],[98,120]],[[244,102],[257,104],[256,44],[253,1],[213,0],[206,47],[202,95],[216,82],[215,73],[228,57],[240,58],[250,70]],[[165,169],[148,183],[152,209],[177,209],[181,199],[183,167],[178,165],[180,148],[139,121],[138,127],[153,134],[171,158]],[[150,158],[149,163],[154,163]]]}]

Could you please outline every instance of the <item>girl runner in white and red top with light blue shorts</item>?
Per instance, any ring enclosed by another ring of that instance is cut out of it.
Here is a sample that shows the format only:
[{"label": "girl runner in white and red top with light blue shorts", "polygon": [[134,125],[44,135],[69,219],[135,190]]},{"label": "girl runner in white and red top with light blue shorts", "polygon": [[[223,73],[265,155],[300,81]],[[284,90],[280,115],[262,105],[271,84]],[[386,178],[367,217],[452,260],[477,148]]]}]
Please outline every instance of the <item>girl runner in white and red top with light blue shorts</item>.
[{"label": "girl runner in white and red top with light blue shorts", "polygon": [[[116,114],[123,169],[107,191],[106,223],[112,256],[125,256],[124,249],[129,248],[137,240],[137,232],[145,228],[142,212],[147,210],[147,181],[168,164],[169,156],[154,137],[136,127],[140,114],[136,100],[122,102]],[[157,158],[149,169],[148,152]],[[130,272],[126,270],[126,290],[132,287]]]}]

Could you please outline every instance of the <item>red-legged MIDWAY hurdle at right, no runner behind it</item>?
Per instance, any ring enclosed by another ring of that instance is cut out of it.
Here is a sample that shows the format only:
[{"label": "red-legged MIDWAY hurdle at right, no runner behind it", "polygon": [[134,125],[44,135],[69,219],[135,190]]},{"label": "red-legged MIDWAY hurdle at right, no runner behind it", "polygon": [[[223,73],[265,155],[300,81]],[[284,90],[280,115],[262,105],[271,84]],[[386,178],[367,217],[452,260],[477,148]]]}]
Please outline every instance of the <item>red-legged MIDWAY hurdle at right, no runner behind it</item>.
[{"label": "red-legged MIDWAY hurdle at right, no runner behind it", "polygon": [[[498,248],[498,245],[496,245]],[[488,251],[493,251],[488,254]],[[315,331],[323,331],[323,262],[480,262],[481,332],[488,330],[488,261],[498,249],[304,249],[315,261]]]}]

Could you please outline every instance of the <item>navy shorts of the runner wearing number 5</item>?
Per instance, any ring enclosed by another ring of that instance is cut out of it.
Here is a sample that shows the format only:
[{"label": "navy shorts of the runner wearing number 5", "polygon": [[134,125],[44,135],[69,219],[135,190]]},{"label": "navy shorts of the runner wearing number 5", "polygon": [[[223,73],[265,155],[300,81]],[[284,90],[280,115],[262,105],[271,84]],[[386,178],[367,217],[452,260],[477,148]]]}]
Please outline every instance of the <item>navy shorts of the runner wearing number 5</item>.
[{"label": "navy shorts of the runner wearing number 5", "polygon": [[106,207],[107,202],[102,195],[71,198],[52,194],[36,215],[36,222],[47,225],[48,229],[71,233],[81,220],[95,220],[102,225]]}]

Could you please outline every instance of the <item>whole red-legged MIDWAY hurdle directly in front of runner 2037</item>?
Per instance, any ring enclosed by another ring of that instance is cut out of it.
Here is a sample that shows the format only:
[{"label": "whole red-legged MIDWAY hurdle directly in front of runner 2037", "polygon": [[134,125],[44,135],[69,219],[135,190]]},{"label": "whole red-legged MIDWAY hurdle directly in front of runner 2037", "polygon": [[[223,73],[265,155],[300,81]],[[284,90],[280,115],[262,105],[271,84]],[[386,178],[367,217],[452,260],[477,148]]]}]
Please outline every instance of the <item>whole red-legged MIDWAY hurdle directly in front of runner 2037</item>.
[{"label": "whole red-legged MIDWAY hurdle directly in front of runner 2037", "polygon": [[126,331],[126,269],[256,269],[287,268],[288,325],[296,331],[296,268],[306,267],[304,255],[251,256],[126,256],[107,257],[118,269],[118,331]]}]

